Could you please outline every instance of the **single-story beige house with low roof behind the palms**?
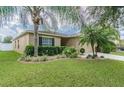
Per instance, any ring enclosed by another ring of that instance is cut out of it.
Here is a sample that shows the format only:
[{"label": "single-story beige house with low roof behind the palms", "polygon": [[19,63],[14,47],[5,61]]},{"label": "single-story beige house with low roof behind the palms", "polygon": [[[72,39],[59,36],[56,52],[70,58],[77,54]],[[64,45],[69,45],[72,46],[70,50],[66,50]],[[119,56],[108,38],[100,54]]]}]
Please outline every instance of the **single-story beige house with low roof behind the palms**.
[{"label": "single-story beige house with low roof behind the palms", "polygon": [[[39,31],[38,32],[38,44],[42,46],[69,46],[80,50],[79,36],[65,35],[52,31]],[[13,39],[13,49],[17,52],[23,53],[27,45],[34,44],[34,33],[31,30],[21,33],[19,36]],[[91,47],[84,45],[85,51],[90,52]]]}]

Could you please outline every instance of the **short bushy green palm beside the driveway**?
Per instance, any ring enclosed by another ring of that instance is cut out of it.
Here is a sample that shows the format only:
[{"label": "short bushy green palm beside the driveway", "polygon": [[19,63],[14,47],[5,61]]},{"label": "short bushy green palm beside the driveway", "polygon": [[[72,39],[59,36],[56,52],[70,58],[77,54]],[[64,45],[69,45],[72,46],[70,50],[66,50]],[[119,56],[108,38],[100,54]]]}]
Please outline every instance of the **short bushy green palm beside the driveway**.
[{"label": "short bushy green palm beside the driveway", "polygon": [[103,47],[107,46],[108,44],[114,44],[114,40],[118,40],[118,37],[118,32],[112,27],[104,28],[101,26],[86,25],[80,37],[80,44],[90,44],[94,57],[95,47]]}]

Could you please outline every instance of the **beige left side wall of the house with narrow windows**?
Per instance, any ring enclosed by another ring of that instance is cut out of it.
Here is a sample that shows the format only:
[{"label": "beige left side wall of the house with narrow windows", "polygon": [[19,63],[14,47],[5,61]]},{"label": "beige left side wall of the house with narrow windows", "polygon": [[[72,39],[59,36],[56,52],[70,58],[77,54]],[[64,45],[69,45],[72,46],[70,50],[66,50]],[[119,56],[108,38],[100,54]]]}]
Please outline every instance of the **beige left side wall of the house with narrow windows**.
[{"label": "beige left side wall of the house with narrow windows", "polygon": [[[15,43],[16,42],[16,43]],[[13,49],[19,53],[23,53],[25,47],[29,45],[29,34],[21,36],[20,38],[13,40]],[[19,46],[19,47],[18,47]]]}]

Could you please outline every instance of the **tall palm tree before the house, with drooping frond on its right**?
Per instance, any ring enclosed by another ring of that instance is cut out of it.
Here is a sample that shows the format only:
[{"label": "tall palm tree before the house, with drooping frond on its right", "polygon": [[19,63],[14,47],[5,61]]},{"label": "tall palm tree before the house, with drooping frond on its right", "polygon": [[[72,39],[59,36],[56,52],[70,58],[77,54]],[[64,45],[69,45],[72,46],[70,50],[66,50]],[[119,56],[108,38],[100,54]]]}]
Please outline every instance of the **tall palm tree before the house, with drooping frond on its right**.
[{"label": "tall palm tree before the house, with drooping frond on its right", "polygon": [[[52,24],[55,24],[53,25],[55,29],[57,29],[57,22],[56,22],[55,17],[50,12],[45,11],[45,7],[26,6],[24,8],[26,9],[27,12],[30,13],[32,22],[34,24],[34,56],[38,56],[38,29],[39,29],[39,25],[43,24],[44,22],[43,17],[41,16],[41,13],[46,14],[52,19]],[[49,26],[47,22],[46,24],[47,26]],[[54,29],[54,27],[52,27],[52,29]]]}]

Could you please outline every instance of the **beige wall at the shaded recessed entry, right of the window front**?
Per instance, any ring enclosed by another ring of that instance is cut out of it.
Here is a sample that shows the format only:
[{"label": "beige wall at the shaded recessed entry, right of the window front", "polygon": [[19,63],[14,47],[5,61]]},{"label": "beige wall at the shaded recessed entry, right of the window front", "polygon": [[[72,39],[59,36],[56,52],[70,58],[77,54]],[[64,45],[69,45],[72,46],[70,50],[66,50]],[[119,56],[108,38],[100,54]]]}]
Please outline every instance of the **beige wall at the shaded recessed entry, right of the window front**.
[{"label": "beige wall at the shaded recessed entry, right of the window front", "polygon": [[83,45],[81,46],[79,44],[79,41],[80,41],[80,38],[79,37],[73,37],[73,38],[69,38],[66,45],[69,46],[69,47],[74,47],[76,48],[78,51],[80,50],[80,48],[84,48],[85,49],[85,52],[91,52],[92,49],[91,49],[91,46],[90,45]]}]

